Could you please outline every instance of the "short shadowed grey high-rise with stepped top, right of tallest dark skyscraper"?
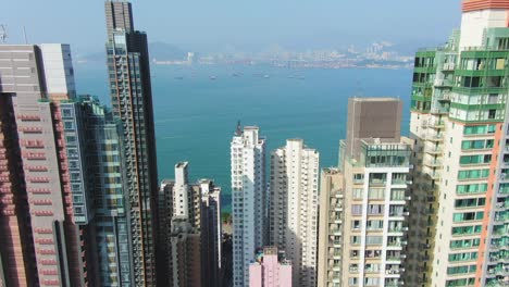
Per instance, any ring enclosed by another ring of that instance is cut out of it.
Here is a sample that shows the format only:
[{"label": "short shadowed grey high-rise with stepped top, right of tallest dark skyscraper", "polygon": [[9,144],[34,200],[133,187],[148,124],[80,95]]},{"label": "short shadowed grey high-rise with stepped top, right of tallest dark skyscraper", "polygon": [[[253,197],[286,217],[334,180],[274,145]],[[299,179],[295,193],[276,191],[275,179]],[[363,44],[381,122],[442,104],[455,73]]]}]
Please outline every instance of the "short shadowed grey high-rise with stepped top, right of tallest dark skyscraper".
[{"label": "short shadowed grey high-rise with stepped top, right of tallest dark skyscraper", "polygon": [[175,180],[161,184],[161,284],[221,286],[221,188],[210,179],[189,183],[188,165],[177,163]]}]

